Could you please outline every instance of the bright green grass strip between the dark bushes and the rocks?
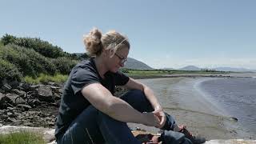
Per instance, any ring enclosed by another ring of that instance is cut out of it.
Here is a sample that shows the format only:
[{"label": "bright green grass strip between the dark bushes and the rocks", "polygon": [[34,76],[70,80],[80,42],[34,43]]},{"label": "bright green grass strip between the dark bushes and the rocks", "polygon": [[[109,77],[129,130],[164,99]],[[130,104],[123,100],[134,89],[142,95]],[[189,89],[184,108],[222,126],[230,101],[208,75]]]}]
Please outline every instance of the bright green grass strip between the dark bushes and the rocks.
[{"label": "bright green grass strip between the dark bushes and the rocks", "polygon": [[23,81],[30,83],[30,84],[38,84],[38,83],[46,83],[46,82],[57,82],[62,83],[66,82],[66,79],[68,78],[68,75],[63,74],[55,74],[47,75],[47,74],[40,74],[38,78],[32,78],[30,76],[26,76]]}]

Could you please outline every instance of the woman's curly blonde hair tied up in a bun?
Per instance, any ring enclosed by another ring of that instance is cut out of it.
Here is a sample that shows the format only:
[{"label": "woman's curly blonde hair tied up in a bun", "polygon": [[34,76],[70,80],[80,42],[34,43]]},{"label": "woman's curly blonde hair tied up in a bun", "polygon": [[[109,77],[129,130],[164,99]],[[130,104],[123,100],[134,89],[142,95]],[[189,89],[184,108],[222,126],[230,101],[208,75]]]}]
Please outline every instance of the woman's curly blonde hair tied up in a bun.
[{"label": "woman's curly blonde hair tied up in a bun", "polygon": [[[83,42],[86,46],[86,51],[91,56],[98,56],[102,54],[103,49],[112,50],[114,53],[122,47],[127,47],[130,49],[128,38],[122,34],[119,34],[115,30],[110,30],[106,34],[102,35],[100,30],[94,28],[93,30],[90,30],[89,34],[84,36]],[[111,57],[113,55],[111,55]]]}]

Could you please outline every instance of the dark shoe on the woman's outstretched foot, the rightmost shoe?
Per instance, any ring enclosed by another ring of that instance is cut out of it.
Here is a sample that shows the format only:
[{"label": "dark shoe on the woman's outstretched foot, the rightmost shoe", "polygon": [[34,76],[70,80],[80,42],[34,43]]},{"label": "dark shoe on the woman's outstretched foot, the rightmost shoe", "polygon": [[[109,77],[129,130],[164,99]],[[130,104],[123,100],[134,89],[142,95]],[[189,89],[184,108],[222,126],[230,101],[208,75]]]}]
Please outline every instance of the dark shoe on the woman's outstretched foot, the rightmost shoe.
[{"label": "dark shoe on the woman's outstretched foot, the rightmost shoe", "polygon": [[179,132],[180,132],[180,133],[183,133],[186,138],[189,138],[190,141],[191,141],[193,144],[201,144],[201,143],[206,142],[206,138],[201,138],[201,137],[193,136],[193,135],[190,133],[190,131],[186,129],[186,126],[182,126],[182,127],[181,127],[181,130],[179,130]]}]

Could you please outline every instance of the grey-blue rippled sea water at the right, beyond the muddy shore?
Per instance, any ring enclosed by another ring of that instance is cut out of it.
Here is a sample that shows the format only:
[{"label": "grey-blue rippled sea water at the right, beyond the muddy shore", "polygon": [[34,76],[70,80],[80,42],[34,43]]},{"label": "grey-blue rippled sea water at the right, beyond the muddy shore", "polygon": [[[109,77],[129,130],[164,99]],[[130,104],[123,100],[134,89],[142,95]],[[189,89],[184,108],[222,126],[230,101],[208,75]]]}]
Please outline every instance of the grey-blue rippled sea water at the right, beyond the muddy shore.
[{"label": "grey-blue rippled sea water at the right, beyond the muddy shore", "polygon": [[214,78],[198,87],[238,125],[256,135],[256,78]]}]

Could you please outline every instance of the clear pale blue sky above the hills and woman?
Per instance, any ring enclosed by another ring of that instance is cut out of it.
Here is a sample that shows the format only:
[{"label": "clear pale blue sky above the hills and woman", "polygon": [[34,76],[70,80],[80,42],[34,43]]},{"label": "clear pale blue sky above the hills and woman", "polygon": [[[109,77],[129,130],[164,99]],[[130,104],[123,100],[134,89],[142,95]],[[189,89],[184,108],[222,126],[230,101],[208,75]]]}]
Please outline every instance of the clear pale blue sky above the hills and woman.
[{"label": "clear pale blue sky above the hills and woman", "polygon": [[154,68],[256,70],[255,7],[254,0],[1,0],[0,37],[83,53],[83,35],[97,27],[126,35],[129,57]]}]

